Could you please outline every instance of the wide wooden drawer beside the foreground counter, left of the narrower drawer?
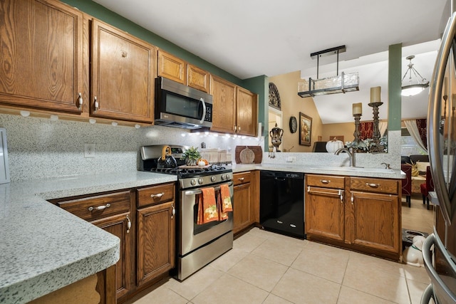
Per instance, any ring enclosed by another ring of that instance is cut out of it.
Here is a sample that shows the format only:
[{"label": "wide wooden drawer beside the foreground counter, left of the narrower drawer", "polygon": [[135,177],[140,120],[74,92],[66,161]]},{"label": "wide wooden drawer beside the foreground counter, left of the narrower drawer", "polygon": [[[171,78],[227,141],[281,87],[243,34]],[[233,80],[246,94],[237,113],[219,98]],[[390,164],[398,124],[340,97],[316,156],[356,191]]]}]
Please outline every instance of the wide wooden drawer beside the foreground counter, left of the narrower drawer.
[{"label": "wide wooden drawer beside the foreground counter, left of the narrower drawer", "polygon": [[130,191],[59,201],[57,206],[81,217],[81,219],[93,221],[130,211]]}]

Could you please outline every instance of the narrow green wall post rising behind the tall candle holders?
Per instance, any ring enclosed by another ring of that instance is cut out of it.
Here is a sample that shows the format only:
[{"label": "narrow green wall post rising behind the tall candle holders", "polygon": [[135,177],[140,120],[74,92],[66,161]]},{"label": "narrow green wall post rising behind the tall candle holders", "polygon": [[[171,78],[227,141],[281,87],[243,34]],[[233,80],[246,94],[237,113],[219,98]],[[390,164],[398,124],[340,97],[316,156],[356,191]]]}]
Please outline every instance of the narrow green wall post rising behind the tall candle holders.
[{"label": "narrow green wall post rising behind the tall candle holders", "polygon": [[388,48],[388,130],[400,130],[401,120],[401,58],[402,43]]}]

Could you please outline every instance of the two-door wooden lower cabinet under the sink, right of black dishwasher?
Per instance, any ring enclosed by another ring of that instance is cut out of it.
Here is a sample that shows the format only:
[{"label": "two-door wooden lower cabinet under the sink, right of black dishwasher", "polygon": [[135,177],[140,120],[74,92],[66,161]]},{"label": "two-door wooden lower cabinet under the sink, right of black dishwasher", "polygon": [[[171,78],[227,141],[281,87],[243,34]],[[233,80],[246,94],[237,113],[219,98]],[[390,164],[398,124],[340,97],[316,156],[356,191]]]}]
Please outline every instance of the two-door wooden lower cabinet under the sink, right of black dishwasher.
[{"label": "two-door wooden lower cabinet under the sink, right of black dishwasher", "polygon": [[[345,179],[343,184],[340,178]],[[326,186],[331,181],[338,189]],[[307,174],[307,239],[398,261],[402,249],[399,188],[398,179]]]}]

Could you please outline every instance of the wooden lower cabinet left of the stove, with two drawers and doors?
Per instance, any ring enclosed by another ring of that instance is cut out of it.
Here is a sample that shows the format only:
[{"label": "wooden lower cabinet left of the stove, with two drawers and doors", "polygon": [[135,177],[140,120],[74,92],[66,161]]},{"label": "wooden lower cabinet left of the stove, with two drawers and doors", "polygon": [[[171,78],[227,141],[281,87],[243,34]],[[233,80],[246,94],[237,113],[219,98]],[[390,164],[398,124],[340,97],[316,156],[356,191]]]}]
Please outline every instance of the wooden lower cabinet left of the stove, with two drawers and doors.
[{"label": "wooden lower cabinet left of the stove, with two drawers and doors", "polygon": [[100,303],[123,303],[175,267],[175,183],[51,200],[120,239],[119,261],[98,273]]}]

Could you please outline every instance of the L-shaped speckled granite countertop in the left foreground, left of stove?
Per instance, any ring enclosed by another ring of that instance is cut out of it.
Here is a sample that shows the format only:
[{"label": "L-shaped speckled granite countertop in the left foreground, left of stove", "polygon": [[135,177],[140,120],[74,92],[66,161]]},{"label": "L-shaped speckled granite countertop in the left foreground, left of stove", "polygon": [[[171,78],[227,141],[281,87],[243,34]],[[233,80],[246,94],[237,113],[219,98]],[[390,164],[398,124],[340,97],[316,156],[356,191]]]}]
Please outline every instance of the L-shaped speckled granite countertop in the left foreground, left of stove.
[{"label": "L-shaped speckled granite countertop in the left foreground, left of stove", "polygon": [[26,303],[114,265],[120,240],[46,199],[173,182],[116,172],[0,184],[0,303]]}]

